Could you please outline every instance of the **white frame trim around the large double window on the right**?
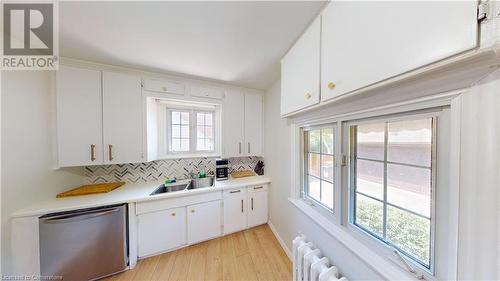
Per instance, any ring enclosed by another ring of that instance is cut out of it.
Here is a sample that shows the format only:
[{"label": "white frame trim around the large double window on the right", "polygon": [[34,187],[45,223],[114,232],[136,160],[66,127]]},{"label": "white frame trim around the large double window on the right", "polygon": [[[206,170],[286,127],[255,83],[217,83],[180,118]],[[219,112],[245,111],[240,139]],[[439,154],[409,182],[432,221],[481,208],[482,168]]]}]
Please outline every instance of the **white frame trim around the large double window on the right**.
[{"label": "white frame trim around the large double window on the right", "polygon": [[[361,260],[365,261],[368,266],[370,266],[375,272],[387,278],[389,280],[393,279],[411,279],[413,277],[410,274],[400,260],[394,255],[388,255],[389,251],[385,254],[380,253],[380,246],[373,246],[373,242],[366,241],[373,240],[374,238],[368,237],[366,234],[357,233],[357,231],[352,230],[352,226],[349,226],[349,194],[345,189],[346,184],[349,179],[347,177],[347,169],[340,169],[340,173],[336,171],[337,177],[341,175],[340,185],[342,188],[341,193],[336,193],[335,204],[340,206],[340,212],[336,212],[333,216],[325,216],[324,213],[320,212],[315,208],[314,205],[301,199],[301,188],[302,188],[302,159],[301,156],[304,155],[302,148],[302,134],[301,128],[306,126],[313,126],[325,123],[338,123],[342,124],[350,120],[363,119],[369,117],[376,117],[382,115],[398,114],[404,112],[411,112],[416,110],[449,106],[450,107],[450,171],[449,171],[449,185],[455,188],[455,192],[449,194],[449,204],[448,204],[448,221],[450,227],[446,230],[448,239],[446,241],[445,253],[441,253],[446,257],[446,262],[439,264],[439,268],[436,268],[440,272],[440,276],[435,277],[424,270],[418,270],[419,273],[423,273],[427,280],[437,280],[448,279],[454,280],[457,278],[457,262],[458,262],[458,202],[459,202],[459,163],[460,163],[460,114],[461,114],[461,94],[464,91],[454,91],[441,95],[436,95],[427,98],[421,98],[418,100],[402,102],[397,104],[392,104],[388,106],[362,110],[349,114],[342,114],[338,116],[327,116],[327,117],[316,117],[315,119],[295,119],[293,120],[291,127],[291,197],[289,201],[297,207],[299,210],[304,212],[313,221],[315,221],[319,226],[321,226],[327,233],[329,233],[334,239],[344,244],[348,249],[353,251]],[[340,130],[337,136],[341,136],[342,126],[337,126]],[[342,135],[343,136],[343,135]],[[336,144],[341,143],[337,141]],[[342,146],[338,151],[342,151],[343,155],[346,155],[345,149],[346,144],[341,143]],[[337,149],[337,145],[336,145]],[[336,166],[341,166],[341,158],[337,157],[335,160]],[[346,182],[347,181],[347,182]],[[339,188],[340,188],[339,186]],[[341,196],[338,196],[338,195]],[[341,197],[341,198],[339,198]],[[338,201],[341,201],[338,203]],[[338,205],[341,204],[341,205]],[[339,210],[340,208],[336,208]],[[340,214],[339,214],[340,213]],[[331,219],[333,217],[333,220]],[[380,244],[383,244],[380,242]],[[386,247],[388,248],[388,247]],[[413,263],[412,263],[413,266]],[[414,268],[416,266],[413,266]],[[417,268],[418,269],[418,268]]]}]

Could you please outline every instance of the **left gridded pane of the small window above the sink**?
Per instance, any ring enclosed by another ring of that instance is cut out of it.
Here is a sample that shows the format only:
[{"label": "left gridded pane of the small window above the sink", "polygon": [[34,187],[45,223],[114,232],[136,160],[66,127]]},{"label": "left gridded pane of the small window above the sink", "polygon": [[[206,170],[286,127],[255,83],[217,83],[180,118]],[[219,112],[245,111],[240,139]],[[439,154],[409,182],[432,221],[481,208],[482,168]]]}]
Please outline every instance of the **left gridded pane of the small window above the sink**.
[{"label": "left gridded pane of the small window above the sink", "polygon": [[190,150],[190,112],[189,111],[171,111],[170,112],[170,151],[186,152]]}]

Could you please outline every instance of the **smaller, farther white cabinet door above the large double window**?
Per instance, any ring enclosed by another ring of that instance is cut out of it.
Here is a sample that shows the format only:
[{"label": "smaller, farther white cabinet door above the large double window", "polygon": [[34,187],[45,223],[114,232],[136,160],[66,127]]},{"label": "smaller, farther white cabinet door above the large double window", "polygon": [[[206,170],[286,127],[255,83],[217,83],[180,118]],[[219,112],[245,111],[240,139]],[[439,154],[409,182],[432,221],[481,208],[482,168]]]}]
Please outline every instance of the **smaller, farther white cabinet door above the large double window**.
[{"label": "smaller, farther white cabinet door above the large double window", "polygon": [[319,103],[320,29],[318,17],[281,61],[281,115]]}]

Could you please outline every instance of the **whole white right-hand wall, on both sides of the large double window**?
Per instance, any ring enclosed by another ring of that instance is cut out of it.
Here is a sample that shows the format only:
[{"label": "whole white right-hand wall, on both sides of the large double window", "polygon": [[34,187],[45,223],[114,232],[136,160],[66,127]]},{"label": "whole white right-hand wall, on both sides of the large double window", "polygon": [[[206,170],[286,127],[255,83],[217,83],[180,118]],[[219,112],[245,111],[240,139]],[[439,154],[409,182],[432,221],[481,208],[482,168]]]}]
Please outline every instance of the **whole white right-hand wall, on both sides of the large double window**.
[{"label": "whole white right-hand wall, on both sides of the large double window", "polygon": [[[265,159],[270,220],[291,249],[298,233],[326,253],[350,280],[380,279],[338,241],[291,205],[290,126],[281,119],[280,81],[265,95]],[[500,280],[500,70],[462,95],[460,280]]]}]

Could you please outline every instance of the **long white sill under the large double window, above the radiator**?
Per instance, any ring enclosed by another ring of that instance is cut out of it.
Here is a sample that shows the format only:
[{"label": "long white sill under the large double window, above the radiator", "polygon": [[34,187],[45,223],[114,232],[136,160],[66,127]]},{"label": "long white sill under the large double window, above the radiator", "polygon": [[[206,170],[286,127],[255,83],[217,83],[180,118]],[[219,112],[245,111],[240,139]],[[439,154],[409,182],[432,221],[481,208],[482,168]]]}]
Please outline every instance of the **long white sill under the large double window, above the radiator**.
[{"label": "long white sill under the large double window, above the radiator", "polygon": [[[386,256],[377,254],[361,241],[352,236],[345,227],[338,226],[321,215],[314,207],[306,204],[300,199],[289,198],[297,209],[312,219],[318,226],[323,228],[329,235],[344,245],[349,251],[366,263],[373,271],[386,280],[418,280],[411,273],[389,261]],[[312,241],[314,243],[314,241]]]}]

